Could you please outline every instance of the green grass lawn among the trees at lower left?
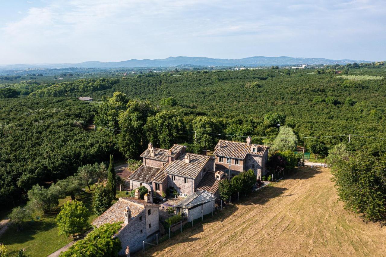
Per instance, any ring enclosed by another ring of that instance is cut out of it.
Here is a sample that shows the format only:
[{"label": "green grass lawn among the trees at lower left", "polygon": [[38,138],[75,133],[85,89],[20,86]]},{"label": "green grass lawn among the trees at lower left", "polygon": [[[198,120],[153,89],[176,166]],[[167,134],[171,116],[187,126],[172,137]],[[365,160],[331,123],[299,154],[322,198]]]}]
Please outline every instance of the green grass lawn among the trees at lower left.
[{"label": "green grass lawn among the trees at lower left", "polygon": [[[93,190],[94,186],[91,186]],[[113,201],[115,203],[119,197],[128,196],[126,191],[117,191],[117,198]],[[60,207],[71,200],[68,196],[59,200],[59,207],[57,213],[60,211]],[[87,208],[91,212],[92,191],[88,188],[86,191],[77,198],[79,201],[83,201]],[[18,232],[14,228],[8,228],[8,230],[0,237],[0,242],[4,243],[8,249],[8,253],[12,256],[17,254],[19,249],[26,249],[26,253],[32,257],[41,257],[52,254],[56,250],[65,246],[72,241],[72,238],[67,238],[63,235],[58,235],[58,227],[56,226],[55,217],[56,214],[49,216],[42,216],[39,220],[34,219],[29,221],[25,228]],[[93,221],[97,217],[96,214],[91,214],[89,222]]]}]

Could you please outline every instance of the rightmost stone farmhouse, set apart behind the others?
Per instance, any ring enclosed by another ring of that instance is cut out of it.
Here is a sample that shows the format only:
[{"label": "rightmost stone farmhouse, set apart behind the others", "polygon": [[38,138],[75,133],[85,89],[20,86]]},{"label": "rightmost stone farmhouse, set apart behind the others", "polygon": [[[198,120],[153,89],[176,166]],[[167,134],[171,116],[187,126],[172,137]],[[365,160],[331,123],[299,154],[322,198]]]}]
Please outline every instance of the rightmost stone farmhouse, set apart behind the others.
[{"label": "rightmost stone farmhouse, set apart behind the others", "polygon": [[246,143],[219,140],[213,153],[215,171],[223,171],[232,178],[252,169],[256,178],[261,179],[267,172],[268,149],[266,145],[251,144],[251,137],[247,137]]}]

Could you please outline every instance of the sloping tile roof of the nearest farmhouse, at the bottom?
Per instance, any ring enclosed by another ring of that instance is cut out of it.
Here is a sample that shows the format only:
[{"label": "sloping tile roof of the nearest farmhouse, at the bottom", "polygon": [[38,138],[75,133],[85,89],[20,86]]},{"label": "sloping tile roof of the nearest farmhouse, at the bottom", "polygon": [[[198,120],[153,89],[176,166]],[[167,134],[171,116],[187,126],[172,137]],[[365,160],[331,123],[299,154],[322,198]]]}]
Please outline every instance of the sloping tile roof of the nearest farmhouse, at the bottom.
[{"label": "sloping tile roof of the nearest farmhouse, at the bottom", "polygon": [[[121,200],[114,203],[110,208],[96,218],[91,224],[95,227],[99,227],[106,223],[114,223],[125,220],[125,209],[129,206],[131,210],[131,216],[135,217],[145,208],[144,206],[137,205],[127,200]],[[123,224],[125,226],[125,224]]]}]

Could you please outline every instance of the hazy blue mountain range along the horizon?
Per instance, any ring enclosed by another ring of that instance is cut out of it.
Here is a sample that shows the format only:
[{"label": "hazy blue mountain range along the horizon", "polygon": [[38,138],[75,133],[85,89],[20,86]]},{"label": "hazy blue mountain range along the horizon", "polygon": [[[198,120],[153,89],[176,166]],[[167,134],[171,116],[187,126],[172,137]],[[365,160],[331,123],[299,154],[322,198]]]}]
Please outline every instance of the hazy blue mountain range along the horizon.
[{"label": "hazy blue mountain range along the horizon", "polygon": [[370,63],[363,60],[331,60],[325,58],[301,58],[301,57],[266,57],[254,56],[242,59],[215,59],[207,57],[168,57],[166,59],[131,59],[120,62],[88,61],[83,63],[58,63],[58,64],[12,64],[2,66],[8,69],[27,68],[135,68],[135,67],[175,67],[180,65],[191,66],[271,66],[271,65],[298,65],[298,64],[346,64],[346,63]]}]

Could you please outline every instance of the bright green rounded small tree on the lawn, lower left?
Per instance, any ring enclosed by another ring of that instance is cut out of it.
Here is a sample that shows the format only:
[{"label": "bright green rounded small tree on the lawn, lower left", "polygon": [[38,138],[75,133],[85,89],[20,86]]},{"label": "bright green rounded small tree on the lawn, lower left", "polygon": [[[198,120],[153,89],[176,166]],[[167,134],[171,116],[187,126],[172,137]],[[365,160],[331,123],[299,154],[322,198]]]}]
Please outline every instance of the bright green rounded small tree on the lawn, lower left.
[{"label": "bright green rounded small tree on the lawn, lower left", "polygon": [[56,216],[59,235],[71,235],[83,232],[88,226],[88,217],[90,214],[86,206],[80,201],[68,201],[64,204]]}]

